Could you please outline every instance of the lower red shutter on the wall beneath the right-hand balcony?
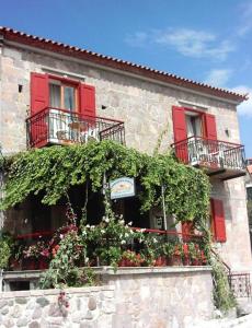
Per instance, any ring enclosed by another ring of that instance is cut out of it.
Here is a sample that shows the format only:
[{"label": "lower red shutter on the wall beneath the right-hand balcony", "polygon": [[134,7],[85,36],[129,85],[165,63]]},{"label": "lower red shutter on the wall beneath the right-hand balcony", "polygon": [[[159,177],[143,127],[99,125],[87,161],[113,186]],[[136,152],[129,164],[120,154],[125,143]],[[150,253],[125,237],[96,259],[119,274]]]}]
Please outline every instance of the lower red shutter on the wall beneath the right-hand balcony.
[{"label": "lower red shutter on the wall beneath the right-hand balcony", "polygon": [[224,214],[224,203],[219,199],[211,199],[211,212],[214,220],[214,232],[216,242],[225,243],[226,237],[226,223]]}]

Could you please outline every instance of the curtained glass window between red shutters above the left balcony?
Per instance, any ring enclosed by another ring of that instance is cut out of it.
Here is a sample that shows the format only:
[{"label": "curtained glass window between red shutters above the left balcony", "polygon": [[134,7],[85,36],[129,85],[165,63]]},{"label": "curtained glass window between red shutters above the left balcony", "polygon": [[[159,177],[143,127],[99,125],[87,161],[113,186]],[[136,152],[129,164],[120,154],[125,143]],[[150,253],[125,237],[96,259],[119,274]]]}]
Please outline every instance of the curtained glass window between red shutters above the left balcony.
[{"label": "curtained glass window between red shutters above the left balcony", "polygon": [[49,81],[49,105],[51,107],[76,112],[77,87],[60,81]]}]

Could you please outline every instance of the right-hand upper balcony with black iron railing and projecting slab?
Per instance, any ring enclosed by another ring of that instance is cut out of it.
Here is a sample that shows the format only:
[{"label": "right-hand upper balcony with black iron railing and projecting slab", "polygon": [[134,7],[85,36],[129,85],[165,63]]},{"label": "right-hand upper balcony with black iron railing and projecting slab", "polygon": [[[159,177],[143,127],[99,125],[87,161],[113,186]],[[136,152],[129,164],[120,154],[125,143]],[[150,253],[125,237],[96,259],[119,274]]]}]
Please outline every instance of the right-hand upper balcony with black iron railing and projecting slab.
[{"label": "right-hand upper balcony with black iron railing and projecting slab", "polygon": [[245,175],[245,155],[242,144],[201,137],[191,137],[173,143],[176,157],[184,164],[205,168],[209,176],[222,180]]}]

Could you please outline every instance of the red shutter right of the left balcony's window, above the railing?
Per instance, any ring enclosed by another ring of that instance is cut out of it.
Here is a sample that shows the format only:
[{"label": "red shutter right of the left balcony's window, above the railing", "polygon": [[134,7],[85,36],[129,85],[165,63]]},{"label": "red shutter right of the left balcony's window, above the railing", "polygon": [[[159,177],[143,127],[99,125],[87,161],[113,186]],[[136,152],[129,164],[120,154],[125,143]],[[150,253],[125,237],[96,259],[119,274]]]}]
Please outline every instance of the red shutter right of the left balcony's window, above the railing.
[{"label": "red shutter right of the left balcony's window, above the railing", "polygon": [[95,117],[95,87],[80,83],[80,113],[87,116]]}]

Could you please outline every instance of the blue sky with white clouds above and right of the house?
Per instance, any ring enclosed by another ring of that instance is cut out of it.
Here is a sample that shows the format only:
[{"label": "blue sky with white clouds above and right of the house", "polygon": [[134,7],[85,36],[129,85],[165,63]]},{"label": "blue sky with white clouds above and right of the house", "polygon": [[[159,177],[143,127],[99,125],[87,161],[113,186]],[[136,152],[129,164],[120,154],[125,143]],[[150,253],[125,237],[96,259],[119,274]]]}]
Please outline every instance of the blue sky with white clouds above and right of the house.
[{"label": "blue sky with white clouds above and right of the house", "polygon": [[250,93],[239,120],[252,157],[252,1],[0,0],[0,25]]}]

